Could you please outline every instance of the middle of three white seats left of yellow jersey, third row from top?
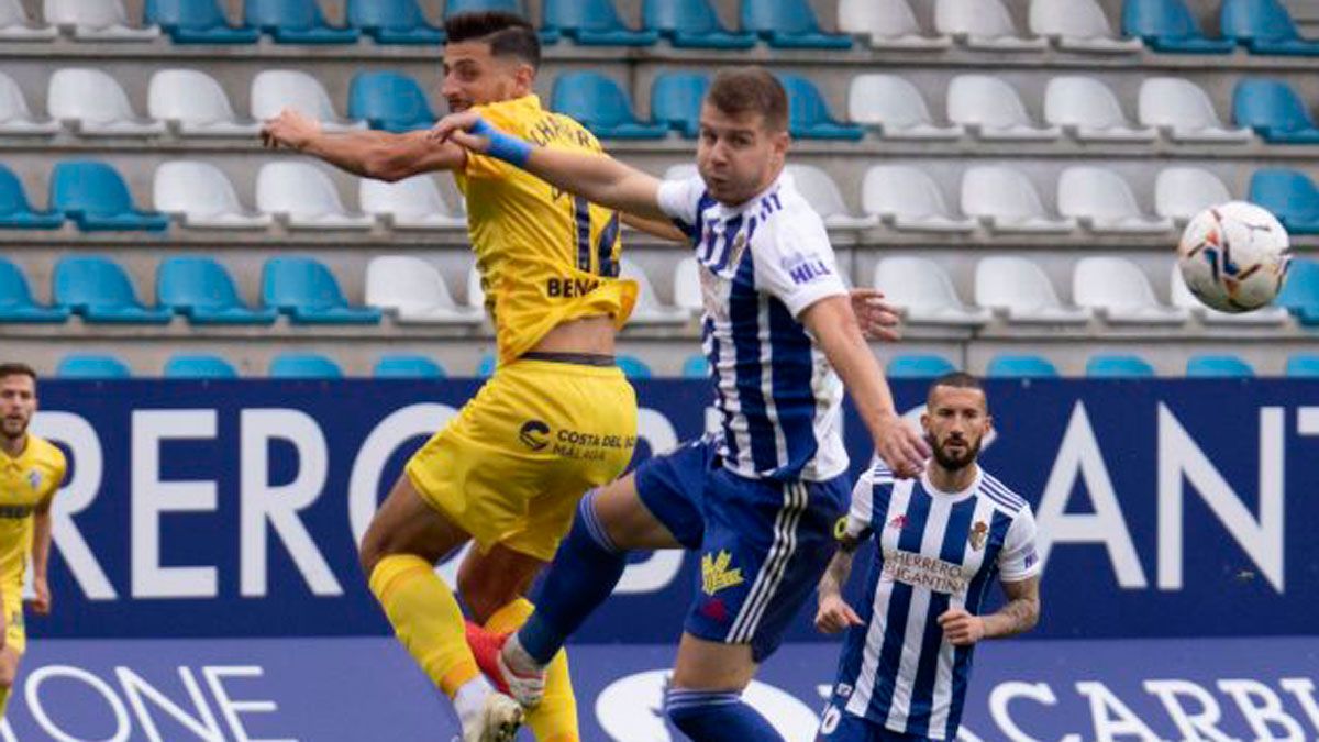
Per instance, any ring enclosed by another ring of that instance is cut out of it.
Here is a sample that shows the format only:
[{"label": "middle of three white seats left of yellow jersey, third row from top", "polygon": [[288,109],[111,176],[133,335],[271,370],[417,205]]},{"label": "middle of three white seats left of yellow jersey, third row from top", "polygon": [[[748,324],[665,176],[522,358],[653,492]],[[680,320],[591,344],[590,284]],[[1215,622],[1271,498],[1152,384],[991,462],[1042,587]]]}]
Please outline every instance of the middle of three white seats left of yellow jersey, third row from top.
[{"label": "middle of three white seats left of yellow jersey, third row from top", "polygon": [[307,230],[369,230],[375,217],[343,207],[334,181],[309,162],[266,162],[256,176],[256,207],[285,214],[290,227]]}]

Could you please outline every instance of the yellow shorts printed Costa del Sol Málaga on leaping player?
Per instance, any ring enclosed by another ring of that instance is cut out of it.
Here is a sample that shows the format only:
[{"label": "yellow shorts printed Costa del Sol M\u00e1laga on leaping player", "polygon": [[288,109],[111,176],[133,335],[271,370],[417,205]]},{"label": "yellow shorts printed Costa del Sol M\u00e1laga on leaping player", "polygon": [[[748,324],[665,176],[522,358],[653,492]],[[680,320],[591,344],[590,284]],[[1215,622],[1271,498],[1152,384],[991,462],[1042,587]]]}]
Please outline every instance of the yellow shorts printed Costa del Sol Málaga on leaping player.
[{"label": "yellow shorts printed Costa del Sol M\u00e1laga on leaping player", "polygon": [[421,496],[471,533],[549,561],[578,500],[623,474],[637,397],[613,366],[514,360],[408,461]]}]

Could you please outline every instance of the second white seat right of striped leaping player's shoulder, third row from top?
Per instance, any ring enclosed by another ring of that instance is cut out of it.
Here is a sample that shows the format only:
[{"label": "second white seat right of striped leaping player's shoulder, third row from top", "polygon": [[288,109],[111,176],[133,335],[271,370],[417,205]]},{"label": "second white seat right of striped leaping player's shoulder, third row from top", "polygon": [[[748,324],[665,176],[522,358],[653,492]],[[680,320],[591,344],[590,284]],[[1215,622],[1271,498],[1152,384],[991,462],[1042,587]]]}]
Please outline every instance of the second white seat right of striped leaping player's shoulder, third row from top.
[{"label": "second white seat right of striped leaping player's shoulder, third row from top", "polygon": [[910,232],[971,232],[976,220],[954,214],[943,190],[921,168],[876,165],[861,181],[861,209],[896,230]]}]

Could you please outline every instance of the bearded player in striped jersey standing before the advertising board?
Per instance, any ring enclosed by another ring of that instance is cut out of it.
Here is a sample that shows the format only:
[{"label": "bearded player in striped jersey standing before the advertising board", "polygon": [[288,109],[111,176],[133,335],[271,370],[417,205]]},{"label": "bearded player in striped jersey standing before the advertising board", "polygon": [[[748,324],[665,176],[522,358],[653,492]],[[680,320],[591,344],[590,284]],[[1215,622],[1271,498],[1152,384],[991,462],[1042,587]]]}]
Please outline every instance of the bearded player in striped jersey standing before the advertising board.
[{"label": "bearded player in striped jersey standing before the advertising board", "polygon": [[[956,739],[981,639],[1029,631],[1039,618],[1039,560],[1030,506],[976,458],[992,419],[980,382],[934,382],[921,417],[934,458],[917,478],[877,463],[852,491],[842,548],[819,585],[815,626],[847,630],[822,742]],[[876,540],[864,602],[843,585],[856,548]],[[981,615],[992,582],[1006,605]]]}]

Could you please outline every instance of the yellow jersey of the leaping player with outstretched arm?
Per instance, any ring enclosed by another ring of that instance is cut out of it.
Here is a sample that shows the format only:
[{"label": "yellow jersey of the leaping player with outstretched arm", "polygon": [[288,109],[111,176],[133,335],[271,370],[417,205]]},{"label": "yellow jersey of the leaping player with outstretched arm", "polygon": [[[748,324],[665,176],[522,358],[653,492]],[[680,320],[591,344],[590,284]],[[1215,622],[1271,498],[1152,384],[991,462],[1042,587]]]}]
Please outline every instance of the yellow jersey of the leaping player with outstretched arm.
[{"label": "yellow jersey of the leaping player with outstretched arm", "polygon": [[[526,95],[472,108],[538,147],[603,153],[582,124]],[[623,327],[637,287],[619,279],[619,215],[513,165],[467,154],[454,173],[467,198],[467,231],[495,321],[500,363],[536,346],[554,326],[609,316]]]}]

